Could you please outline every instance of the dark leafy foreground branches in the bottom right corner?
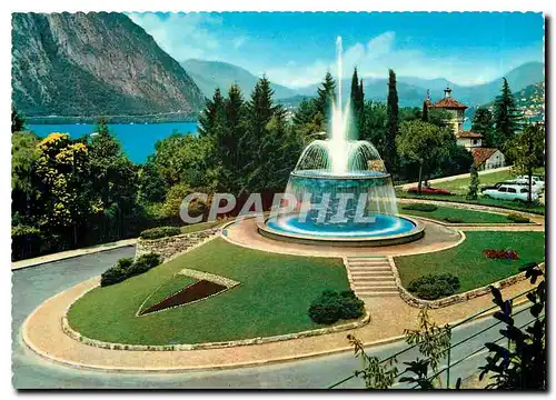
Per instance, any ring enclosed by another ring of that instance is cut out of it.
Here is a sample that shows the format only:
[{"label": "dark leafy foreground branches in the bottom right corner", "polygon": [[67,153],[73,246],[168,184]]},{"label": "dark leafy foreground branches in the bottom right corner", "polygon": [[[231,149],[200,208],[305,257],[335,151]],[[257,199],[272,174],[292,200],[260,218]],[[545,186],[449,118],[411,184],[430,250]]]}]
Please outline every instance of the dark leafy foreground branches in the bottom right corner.
[{"label": "dark leafy foreground branches in the bottom right corner", "polygon": [[[536,283],[544,271],[537,263],[528,263],[520,268],[530,283]],[[529,293],[529,313],[533,321],[527,327],[517,327],[513,318],[512,300],[504,300],[499,289],[490,287],[493,302],[499,311],[494,318],[506,324],[500,329],[502,336],[507,339],[500,344],[497,342],[485,343],[489,354],[486,366],[480,367],[479,379],[490,373],[490,383],[486,389],[500,390],[546,390],[546,281],[542,280]]]}]

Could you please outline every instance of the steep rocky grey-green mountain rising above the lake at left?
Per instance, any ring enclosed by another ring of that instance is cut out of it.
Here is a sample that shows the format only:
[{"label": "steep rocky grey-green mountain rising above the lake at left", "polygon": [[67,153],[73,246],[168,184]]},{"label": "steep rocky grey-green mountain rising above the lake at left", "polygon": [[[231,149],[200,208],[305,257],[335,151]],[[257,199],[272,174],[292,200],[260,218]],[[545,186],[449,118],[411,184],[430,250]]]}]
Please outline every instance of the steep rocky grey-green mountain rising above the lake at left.
[{"label": "steep rocky grey-green mountain rising above the lake at left", "polygon": [[196,116],[205,97],[116,12],[13,13],[12,100],[27,116]]}]

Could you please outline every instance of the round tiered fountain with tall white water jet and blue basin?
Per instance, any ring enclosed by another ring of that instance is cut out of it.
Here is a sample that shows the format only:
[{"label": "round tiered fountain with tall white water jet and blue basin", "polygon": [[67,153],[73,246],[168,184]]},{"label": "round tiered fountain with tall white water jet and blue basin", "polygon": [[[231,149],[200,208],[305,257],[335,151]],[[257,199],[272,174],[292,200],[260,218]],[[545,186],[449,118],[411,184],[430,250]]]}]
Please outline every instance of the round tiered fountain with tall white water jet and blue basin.
[{"label": "round tiered fountain with tall white water jet and blue basin", "polygon": [[[391,177],[377,149],[348,140],[349,101],[341,101],[341,38],[337,42],[337,101],[327,140],[315,140],[291,171],[288,212],[258,224],[272,239],[328,246],[387,246],[424,236],[418,222],[398,214]],[[289,203],[292,202],[292,203]]]}]

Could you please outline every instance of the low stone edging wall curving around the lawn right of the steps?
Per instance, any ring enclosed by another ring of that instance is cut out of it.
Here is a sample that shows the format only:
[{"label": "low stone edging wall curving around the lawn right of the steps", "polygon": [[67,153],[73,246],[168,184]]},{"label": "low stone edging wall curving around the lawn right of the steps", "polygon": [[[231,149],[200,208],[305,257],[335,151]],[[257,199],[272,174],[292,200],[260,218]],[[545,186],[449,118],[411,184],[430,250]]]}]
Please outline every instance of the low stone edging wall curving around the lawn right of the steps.
[{"label": "low stone edging wall curving around the lawn right of the steps", "polygon": [[390,268],[394,272],[394,277],[396,279],[396,286],[398,287],[399,296],[401,299],[408,303],[411,307],[417,307],[417,308],[424,308],[428,307],[430,309],[438,309],[451,304],[456,304],[459,302],[468,301],[471,299],[475,299],[476,297],[479,296],[485,296],[490,293],[490,289],[488,288],[489,286],[494,286],[495,288],[503,289],[508,286],[512,286],[514,283],[520,282],[525,280],[525,272],[520,272],[518,274],[508,277],[506,279],[499,280],[497,282],[494,282],[492,284],[487,284],[481,288],[473,289],[469,291],[466,291],[464,293],[458,293],[458,294],[453,294],[444,299],[438,299],[438,300],[423,300],[418,299],[415,296],[413,296],[406,288],[401,286],[401,280],[399,278],[398,269],[396,268],[396,264],[394,262],[394,257],[388,257],[388,261],[390,262]]}]

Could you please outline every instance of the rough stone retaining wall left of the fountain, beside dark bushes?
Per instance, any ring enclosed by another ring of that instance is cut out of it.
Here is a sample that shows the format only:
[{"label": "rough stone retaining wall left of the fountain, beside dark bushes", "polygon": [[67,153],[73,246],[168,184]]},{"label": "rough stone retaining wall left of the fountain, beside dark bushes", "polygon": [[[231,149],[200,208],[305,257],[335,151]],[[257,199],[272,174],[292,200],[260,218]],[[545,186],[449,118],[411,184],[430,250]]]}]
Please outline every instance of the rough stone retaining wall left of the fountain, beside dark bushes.
[{"label": "rough stone retaining wall left of the fountain, beside dark bushes", "polygon": [[177,234],[160,239],[139,239],[137,240],[136,258],[149,252],[160,254],[168,261],[172,257],[182,253],[191,247],[202,242],[203,240],[217,234],[220,228],[206,229],[198,232]]}]

